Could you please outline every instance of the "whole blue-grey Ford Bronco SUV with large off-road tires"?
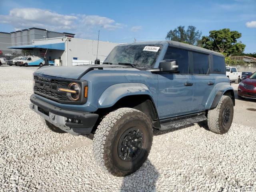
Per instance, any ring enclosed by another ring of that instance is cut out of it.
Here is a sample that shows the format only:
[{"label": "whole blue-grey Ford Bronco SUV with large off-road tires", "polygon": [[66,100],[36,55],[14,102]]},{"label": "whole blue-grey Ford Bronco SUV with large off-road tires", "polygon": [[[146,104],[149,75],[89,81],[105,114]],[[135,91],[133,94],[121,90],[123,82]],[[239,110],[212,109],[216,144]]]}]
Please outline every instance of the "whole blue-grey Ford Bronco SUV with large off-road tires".
[{"label": "whole blue-grey Ford Bronco SUV with large off-road tires", "polygon": [[224,56],[188,44],[120,44],[101,65],[43,66],[33,75],[30,108],[54,132],[94,135],[96,161],[114,176],[142,166],[153,129],[207,121],[224,134],[233,120]]}]

